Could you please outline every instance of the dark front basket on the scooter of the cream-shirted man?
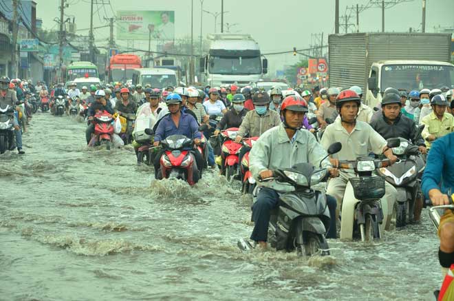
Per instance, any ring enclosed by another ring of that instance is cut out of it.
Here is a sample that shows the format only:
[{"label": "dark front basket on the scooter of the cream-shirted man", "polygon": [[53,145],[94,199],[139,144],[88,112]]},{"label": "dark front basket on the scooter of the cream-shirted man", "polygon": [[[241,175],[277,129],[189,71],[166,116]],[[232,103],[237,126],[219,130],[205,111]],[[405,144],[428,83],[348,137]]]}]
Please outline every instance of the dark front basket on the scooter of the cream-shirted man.
[{"label": "dark front basket on the scooter of the cream-shirted man", "polygon": [[385,196],[385,178],[381,176],[350,178],[349,181],[358,200],[378,200]]}]

